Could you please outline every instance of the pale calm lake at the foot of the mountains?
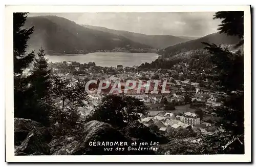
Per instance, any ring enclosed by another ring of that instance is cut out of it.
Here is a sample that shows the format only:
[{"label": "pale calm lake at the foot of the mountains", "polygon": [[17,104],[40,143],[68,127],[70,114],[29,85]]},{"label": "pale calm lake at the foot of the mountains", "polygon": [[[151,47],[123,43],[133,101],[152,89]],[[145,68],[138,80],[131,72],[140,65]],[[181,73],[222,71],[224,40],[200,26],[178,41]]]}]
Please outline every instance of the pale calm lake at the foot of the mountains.
[{"label": "pale calm lake at the foot of the mountains", "polygon": [[78,55],[58,55],[49,56],[49,62],[61,62],[61,61],[77,61],[80,63],[88,63],[89,61],[94,61],[96,66],[102,67],[114,67],[116,65],[123,66],[140,66],[145,62],[152,62],[158,58],[156,53],[125,53],[125,52],[95,52],[88,54],[78,54]]}]

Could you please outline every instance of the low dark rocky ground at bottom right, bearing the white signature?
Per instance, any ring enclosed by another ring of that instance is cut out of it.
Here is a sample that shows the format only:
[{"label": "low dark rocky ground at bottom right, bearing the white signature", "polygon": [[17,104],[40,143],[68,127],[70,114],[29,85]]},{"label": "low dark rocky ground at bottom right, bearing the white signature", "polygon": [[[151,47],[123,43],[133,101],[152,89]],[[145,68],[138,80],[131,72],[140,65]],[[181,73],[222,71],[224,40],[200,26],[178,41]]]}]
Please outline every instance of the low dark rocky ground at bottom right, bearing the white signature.
[{"label": "low dark rocky ground at bottom right, bearing the white signature", "polygon": [[[243,135],[236,137],[244,143]],[[159,155],[244,154],[244,144],[238,140],[234,140],[226,149],[223,149],[223,146],[230,141],[232,141],[232,135],[226,133],[176,139],[167,144],[159,145],[155,153]]]}]

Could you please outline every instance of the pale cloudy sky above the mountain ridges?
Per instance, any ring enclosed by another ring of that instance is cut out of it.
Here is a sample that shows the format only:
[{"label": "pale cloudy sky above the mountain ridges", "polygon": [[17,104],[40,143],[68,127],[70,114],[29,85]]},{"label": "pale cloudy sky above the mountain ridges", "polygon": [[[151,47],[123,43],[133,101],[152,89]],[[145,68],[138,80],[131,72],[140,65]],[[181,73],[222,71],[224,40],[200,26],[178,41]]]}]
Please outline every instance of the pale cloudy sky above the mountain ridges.
[{"label": "pale cloudy sky above the mountain ridges", "polygon": [[29,16],[56,15],[77,24],[106,27],[147,35],[205,36],[217,32],[220,19],[215,12],[151,13],[30,13]]}]

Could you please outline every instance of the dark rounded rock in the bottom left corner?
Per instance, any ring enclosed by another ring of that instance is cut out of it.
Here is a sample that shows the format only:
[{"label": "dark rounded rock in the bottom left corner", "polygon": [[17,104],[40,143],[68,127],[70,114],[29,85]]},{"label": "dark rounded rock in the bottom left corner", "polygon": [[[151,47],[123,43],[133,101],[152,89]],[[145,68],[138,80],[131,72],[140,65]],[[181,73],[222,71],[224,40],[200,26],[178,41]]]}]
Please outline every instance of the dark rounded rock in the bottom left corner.
[{"label": "dark rounded rock in the bottom left corner", "polygon": [[50,155],[49,130],[31,119],[14,118],[15,155]]}]

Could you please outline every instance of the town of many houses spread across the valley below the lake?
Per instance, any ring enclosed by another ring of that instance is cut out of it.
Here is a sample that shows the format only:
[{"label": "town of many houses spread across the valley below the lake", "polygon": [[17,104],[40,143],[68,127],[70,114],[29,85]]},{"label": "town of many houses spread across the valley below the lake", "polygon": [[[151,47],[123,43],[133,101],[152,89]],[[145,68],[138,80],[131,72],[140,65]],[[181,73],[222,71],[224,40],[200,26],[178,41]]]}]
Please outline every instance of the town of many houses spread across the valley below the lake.
[{"label": "town of many houses spread across the valley below the lake", "polygon": [[[190,131],[196,136],[200,136],[223,131],[221,127],[215,127],[213,124],[219,118],[214,109],[222,106],[223,100],[227,95],[223,92],[200,87],[200,83],[191,82],[188,78],[178,80],[181,75],[183,77],[187,73],[197,73],[195,71],[188,72],[186,67],[178,65],[174,66],[176,69],[171,70],[145,71],[136,66],[99,67],[94,62],[80,64],[74,61],[50,62],[49,67],[52,68],[54,74],[70,80],[71,83],[78,80],[87,82],[93,79],[97,80],[98,84],[99,80],[109,81],[113,86],[116,81],[120,81],[122,93],[119,91],[112,91],[111,93],[132,96],[143,101],[148,112],[145,115],[139,113],[140,122],[148,127],[156,126],[156,130],[164,135],[170,135],[173,131]],[[178,78],[174,78],[173,76],[175,75]],[[153,94],[148,90],[153,90],[154,85],[147,85],[147,83],[148,81],[152,83],[156,79],[162,82],[158,83],[157,91],[159,93]],[[126,90],[126,94],[124,94],[127,80],[136,81],[137,84],[133,89]],[[165,90],[168,90],[169,93],[161,93],[163,81],[167,81]],[[144,85],[142,85],[138,93],[140,82],[143,82]],[[94,86],[90,86],[94,93],[90,93],[89,97],[96,103],[103,96],[110,93],[110,88],[103,89],[100,92],[95,91],[98,89],[97,83]],[[90,111],[82,111],[84,115],[87,115],[87,112]]]}]

